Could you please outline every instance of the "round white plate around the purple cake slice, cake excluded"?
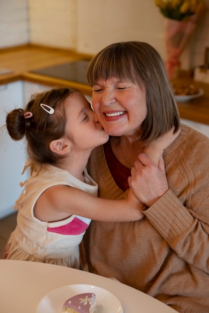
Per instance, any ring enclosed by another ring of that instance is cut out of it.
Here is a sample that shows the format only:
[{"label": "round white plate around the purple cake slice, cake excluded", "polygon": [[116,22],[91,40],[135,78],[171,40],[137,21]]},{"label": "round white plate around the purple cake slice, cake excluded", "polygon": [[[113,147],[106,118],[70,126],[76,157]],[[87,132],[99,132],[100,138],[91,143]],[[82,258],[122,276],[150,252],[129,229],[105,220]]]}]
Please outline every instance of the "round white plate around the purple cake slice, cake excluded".
[{"label": "round white plate around the purple cake slice, cake excluded", "polygon": [[90,284],[70,284],[51,291],[39,303],[37,313],[62,313],[68,298],[84,292],[96,294],[97,313],[123,313],[122,305],[114,294]]}]

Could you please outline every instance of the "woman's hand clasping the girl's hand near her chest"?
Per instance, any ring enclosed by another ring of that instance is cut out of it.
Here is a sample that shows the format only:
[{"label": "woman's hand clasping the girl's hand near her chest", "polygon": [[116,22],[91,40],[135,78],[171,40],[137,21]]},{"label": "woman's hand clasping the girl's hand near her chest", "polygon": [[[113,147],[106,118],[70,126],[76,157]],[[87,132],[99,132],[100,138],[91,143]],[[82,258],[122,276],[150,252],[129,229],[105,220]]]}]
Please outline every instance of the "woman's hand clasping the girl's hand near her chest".
[{"label": "woman's hand clasping the girl's hand near her chest", "polygon": [[136,197],[151,206],[168,190],[164,160],[161,157],[157,166],[145,153],[140,153],[138,158],[128,183]]}]

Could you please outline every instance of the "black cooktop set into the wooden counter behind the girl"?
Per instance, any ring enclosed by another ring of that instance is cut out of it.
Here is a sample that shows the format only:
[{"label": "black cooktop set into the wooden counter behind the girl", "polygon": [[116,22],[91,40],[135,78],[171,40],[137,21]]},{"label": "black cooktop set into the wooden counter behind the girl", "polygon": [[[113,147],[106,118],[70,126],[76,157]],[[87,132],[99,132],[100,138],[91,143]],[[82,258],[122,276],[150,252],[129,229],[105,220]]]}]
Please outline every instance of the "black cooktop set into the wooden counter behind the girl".
[{"label": "black cooktop set into the wooden counter behind the girl", "polygon": [[87,84],[86,70],[89,62],[89,60],[77,60],[55,66],[31,70],[31,72]]}]

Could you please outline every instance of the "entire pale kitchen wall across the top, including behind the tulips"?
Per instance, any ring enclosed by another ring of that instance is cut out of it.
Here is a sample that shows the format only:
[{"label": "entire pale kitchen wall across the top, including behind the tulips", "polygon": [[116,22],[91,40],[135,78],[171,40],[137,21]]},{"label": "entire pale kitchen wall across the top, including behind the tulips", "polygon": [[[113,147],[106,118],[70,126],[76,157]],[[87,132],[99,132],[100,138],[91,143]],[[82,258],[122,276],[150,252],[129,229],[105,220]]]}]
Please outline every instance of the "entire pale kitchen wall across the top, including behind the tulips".
[{"label": "entire pale kitchen wall across the top, including behind the tulips", "polygon": [[[123,40],[147,41],[165,60],[164,19],[154,0],[0,0],[0,48],[31,42],[95,54]],[[202,64],[206,46],[209,9],[181,57],[182,68]]]}]

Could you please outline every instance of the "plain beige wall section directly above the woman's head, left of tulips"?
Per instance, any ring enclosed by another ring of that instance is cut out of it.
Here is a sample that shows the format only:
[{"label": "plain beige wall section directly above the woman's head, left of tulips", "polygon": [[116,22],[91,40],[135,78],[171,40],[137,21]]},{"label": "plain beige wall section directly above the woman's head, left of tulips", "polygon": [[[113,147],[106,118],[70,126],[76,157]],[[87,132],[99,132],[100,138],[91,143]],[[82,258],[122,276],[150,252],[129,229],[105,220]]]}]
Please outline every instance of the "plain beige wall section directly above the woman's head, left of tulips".
[{"label": "plain beige wall section directly above the woman's head, left of tulips", "polygon": [[95,53],[109,43],[126,40],[160,47],[162,27],[163,18],[152,0],[78,0],[79,51]]}]

